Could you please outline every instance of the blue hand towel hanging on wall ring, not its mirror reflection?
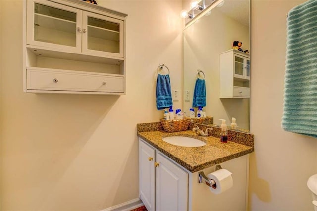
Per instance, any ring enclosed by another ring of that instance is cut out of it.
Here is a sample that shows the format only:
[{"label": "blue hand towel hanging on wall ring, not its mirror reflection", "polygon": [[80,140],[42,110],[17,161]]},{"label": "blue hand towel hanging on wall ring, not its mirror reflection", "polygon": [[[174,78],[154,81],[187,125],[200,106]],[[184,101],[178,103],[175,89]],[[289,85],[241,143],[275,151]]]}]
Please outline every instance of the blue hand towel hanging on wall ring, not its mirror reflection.
[{"label": "blue hand towel hanging on wall ring, not its mirror reflection", "polygon": [[173,106],[169,75],[158,74],[156,95],[158,110]]}]

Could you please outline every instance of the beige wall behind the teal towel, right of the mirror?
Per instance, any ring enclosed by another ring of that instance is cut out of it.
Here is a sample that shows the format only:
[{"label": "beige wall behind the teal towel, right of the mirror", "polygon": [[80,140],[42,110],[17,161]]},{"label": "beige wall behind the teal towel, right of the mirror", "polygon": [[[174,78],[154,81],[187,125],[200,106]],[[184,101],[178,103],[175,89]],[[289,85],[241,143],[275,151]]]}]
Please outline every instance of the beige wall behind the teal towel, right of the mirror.
[{"label": "beige wall behind the teal towel, right of the mirror", "polygon": [[281,128],[286,14],[303,0],[252,0],[249,206],[253,211],[312,211],[307,179],[317,173],[317,139]]}]

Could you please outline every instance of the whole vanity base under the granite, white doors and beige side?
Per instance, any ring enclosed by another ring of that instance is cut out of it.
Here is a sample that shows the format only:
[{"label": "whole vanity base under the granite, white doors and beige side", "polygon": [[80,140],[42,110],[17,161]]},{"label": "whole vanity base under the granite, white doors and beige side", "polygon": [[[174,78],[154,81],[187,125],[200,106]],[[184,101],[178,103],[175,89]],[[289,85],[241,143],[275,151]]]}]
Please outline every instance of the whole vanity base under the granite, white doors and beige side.
[{"label": "whole vanity base under the granite, white doors and beige side", "polygon": [[198,183],[198,174],[208,175],[215,165],[190,172],[139,138],[139,197],[148,211],[246,210],[249,155],[220,165],[232,172],[233,187],[214,194],[204,182]]}]

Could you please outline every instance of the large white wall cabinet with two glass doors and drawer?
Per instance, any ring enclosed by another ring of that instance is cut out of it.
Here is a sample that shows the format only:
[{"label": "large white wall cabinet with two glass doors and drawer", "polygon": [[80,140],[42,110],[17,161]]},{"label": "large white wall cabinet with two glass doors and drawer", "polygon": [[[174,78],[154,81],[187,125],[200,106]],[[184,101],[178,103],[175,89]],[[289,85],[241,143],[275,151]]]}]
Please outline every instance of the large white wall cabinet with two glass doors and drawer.
[{"label": "large white wall cabinet with two glass doors and drawer", "polygon": [[24,91],[126,93],[126,14],[82,0],[24,0]]}]

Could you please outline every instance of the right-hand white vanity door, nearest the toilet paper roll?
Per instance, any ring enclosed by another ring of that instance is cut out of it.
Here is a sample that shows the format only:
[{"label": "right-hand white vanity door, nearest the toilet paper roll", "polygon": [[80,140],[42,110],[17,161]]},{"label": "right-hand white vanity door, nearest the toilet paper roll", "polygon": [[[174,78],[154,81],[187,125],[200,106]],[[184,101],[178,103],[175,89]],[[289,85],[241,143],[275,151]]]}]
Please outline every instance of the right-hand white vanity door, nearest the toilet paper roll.
[{"label": "right-hand white vanity door, nearest the toilet paper roll", "polygon": [[156,157],[156,210],[188,210],[188,173],[160,153]]}]

